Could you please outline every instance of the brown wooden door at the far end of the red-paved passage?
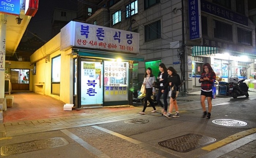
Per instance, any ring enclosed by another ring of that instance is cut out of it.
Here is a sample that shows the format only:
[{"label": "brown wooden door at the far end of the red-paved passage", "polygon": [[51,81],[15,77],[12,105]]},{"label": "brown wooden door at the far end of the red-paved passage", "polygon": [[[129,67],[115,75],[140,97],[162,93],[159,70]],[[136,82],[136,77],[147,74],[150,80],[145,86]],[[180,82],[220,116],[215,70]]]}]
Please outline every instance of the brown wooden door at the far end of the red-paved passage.
[{"label": "brown wooden door at the far end of the red-paved passage", "polygon": [[29,91],[29,69],[11,68],[10,80],[12,90]]}]

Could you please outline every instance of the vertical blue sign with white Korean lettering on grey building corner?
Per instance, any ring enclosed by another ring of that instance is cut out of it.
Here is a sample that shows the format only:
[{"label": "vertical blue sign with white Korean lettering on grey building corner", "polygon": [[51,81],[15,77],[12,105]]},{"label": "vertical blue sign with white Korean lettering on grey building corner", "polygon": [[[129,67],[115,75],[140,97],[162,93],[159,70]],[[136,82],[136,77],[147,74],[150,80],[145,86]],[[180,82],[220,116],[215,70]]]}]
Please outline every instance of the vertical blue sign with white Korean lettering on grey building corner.
[{"label": "vertical blue sign with white Korean lettering on grey building corner", "polygon": [[[202,37],[201,30],[201,11],[200,0],[188,1],[188,17],[189,17],[189,39],[199,39]],[[200,17],[200,18],[199,18]]]}]

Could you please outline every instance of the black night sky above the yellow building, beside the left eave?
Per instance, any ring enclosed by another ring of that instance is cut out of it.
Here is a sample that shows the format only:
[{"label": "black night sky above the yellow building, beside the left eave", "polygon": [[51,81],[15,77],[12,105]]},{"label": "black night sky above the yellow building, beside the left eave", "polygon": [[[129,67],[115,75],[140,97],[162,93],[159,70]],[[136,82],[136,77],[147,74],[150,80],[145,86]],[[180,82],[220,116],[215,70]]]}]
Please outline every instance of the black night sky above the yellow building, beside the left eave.
[{"label": "black night sky above the yellow building, beside the left eave", "polygon": [[[39,0],[38,11],[34,17],[31,17],[27,30],[36,33],[46,42],[52,39],[51,27],[54,8],[77,11],[77,0]],[[26,37],[33,37],[30,32],[25,31],[23,40],[26,41]]]}]

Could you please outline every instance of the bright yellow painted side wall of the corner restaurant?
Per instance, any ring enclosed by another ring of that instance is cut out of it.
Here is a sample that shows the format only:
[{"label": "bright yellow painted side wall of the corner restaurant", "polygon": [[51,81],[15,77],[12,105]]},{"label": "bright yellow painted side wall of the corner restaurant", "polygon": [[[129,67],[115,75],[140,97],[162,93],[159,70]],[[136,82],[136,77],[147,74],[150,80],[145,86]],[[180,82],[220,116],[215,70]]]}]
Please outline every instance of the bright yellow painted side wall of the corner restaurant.
[{"label": "bright yellow painted side wall of the corner restaurant", "polygon": [[[36,75],[33,75],[33,91],[35,84],[45,84],[45,95],[73,103],[73,56],[71,49],[60,51],[60,33],[30,56],[31,63],[36,63]],[[60,95],[51,94],[52,58],[61,55]],[[46,56],[50,61],[46,62]]]}]

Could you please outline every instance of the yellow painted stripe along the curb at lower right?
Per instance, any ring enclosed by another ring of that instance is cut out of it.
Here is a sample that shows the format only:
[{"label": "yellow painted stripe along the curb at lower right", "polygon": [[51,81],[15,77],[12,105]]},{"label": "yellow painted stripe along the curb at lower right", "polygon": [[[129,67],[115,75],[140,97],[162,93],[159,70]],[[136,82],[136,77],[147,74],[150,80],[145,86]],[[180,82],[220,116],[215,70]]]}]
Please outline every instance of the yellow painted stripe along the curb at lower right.
[{"label": "yellow painted stripe along the curb at lower right", "polygon": [[243,137],[245,137],[247,135],[251,135],[253,133],[256,133],[256,128],[249,129],[249,130],[246,130],[246,131],[242,131],[242,132],[230,135],[229,137],[227,137],[225,139],[222,139],[221,141],[218,141],[218,142],[213,143],[211,145],[202,147],[201,149],[207,150],[207,151],[212,151],[212,150],[215,150],[215,149],[217,149],[219,147],[227,145],[228,143],[234,142],[237,139],[243,138]]}]

